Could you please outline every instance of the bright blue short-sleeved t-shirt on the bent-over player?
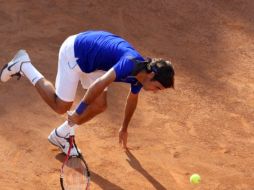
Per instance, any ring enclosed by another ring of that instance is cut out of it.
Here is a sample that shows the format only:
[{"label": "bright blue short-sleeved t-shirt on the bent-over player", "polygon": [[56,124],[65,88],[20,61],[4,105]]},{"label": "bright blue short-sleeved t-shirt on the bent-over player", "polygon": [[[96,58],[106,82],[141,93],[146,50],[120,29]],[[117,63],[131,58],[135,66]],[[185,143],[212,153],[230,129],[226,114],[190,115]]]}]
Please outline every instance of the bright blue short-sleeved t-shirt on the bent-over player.
[{"label": "bright blue short-sleeved t-shirt on the bent-over player", "polygon": [[113,67],[115,82],[130,83],[132,93],[141,90],[142,85],[132,76],[135,63],[131,59],[143,61],[144,58],[121,37],[105,31],[79,33],[74,42],[74,52],[83,72],[108,71]]}]

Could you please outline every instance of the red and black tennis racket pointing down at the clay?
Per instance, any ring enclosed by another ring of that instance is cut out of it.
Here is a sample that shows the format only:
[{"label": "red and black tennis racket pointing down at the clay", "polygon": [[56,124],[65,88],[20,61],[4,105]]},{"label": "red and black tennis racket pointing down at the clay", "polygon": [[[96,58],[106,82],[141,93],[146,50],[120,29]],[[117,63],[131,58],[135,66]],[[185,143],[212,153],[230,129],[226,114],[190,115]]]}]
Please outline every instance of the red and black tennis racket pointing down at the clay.
[{"label": "red and black tennis racket pointing down at the clay", "polygon": [[[90,172],[88,165],[77,148],[74,138],[74,128],[71,128],[70,147],[61,167],[60,184],[62,190],[88,190],[90,184]],[[70,156],[72,147],[75,147],[78,156]]]}]

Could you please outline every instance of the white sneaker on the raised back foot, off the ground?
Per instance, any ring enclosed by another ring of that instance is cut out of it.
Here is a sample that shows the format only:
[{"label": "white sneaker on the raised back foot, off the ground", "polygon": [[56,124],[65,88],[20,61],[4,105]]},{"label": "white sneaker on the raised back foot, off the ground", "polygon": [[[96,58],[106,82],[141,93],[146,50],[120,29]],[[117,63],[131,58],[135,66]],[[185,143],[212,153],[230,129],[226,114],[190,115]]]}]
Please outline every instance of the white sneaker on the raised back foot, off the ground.
[{"label": "white sneaker on the raised back foot, off the ground", "polygon": [[14,58],[1,69],[1,81],[7,82],[13,76],[18,76],[19,79],[22,75],[21,67],[24,63],[31,63],[31,60],[25,50],[19,50]]}]

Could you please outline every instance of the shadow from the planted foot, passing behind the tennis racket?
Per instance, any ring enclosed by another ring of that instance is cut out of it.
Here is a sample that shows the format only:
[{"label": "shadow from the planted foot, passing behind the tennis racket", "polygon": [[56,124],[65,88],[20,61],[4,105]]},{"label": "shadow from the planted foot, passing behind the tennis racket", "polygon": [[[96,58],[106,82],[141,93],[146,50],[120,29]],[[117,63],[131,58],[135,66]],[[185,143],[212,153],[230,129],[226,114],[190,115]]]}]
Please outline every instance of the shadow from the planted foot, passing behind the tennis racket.
[{"label": "shadow from the planted foot, passing behind the tennis racket", "polygon": [[[57,160],[59,160],[61,163],[63,163],[65,159],[65,154],[64,153],[59,153],[55,156]],[[77,170],[80,172],[80,170]],[[90,174],[91,174],[91,180],[97,184],[101,189],[110,189],[110,190],[124,190],[123,188],[119,187],[118,185],[110,182],[106,178],[100,176],[99,174],[91,171],[90,169]]]}]

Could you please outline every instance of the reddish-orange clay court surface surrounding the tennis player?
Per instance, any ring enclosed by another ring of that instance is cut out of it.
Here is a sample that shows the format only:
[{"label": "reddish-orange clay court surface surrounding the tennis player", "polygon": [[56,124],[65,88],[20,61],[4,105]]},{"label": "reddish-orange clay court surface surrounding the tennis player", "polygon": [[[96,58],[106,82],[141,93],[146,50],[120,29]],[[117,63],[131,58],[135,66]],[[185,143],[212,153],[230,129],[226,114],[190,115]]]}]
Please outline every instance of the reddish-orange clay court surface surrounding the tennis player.
[{"label": "reddish-orange clay court surface surrounding the tennis player", "polygon": [[[11,0],[0,5],[0,63],[24,48],[54,82],[64,39],[90,29],[170,59],[175,90],[141,92],[130,153],[118,145],[128,85],[110,86],[108,110],[76,131],[91,189],[252,190],[253,10],[251,0]],[[77,102],[82,96],[80,87]],[[60,189],[63,155],[47,136],[66,115],[55,114],[25,78],[1,83],[0,97],[0,189]],[[192,173],[200,185],[190,184]]]}]

